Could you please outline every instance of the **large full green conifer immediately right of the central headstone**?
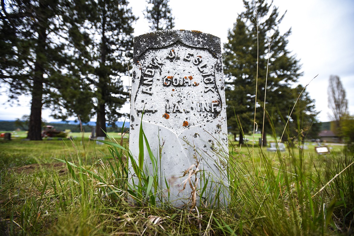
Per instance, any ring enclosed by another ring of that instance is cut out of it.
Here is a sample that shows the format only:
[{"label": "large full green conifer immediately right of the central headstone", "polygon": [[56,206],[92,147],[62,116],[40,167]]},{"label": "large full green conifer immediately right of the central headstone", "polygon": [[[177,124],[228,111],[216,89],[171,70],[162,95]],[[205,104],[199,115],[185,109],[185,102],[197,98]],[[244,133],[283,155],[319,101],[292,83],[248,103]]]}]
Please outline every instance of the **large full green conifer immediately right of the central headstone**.
[{"label": "large full green conifer immediately right of the central headstone", "polygon": [[239,14],[224,44],[226,103],[228,113],[233,113],[234,108],[236,115],[242,117],[244,131],[253,127],[256,106],[256,123],[266,145],[269,121],[278,123],[287,117],[295,103],[291,86],[302,73],[299,61],[286,48],[291,29],[284,34],[279,32],[284,15],[279,17],[278,8],[265,0],[244,0],[244,6],[246,10]]}]

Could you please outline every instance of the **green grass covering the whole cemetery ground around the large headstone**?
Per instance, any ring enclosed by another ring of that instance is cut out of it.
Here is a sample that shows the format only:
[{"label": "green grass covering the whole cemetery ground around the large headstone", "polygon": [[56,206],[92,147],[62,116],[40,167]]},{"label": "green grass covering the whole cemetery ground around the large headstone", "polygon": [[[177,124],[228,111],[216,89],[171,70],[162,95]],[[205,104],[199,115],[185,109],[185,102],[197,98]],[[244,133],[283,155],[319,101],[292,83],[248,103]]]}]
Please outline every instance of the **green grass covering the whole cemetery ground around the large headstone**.
[{"label": "green grass covering the whole cemetery ground around the large headstone", "polygon": [[88,138],[0,140],[1,234],[353,233],[354,165],[349,165],[354,158],[343,154],[343,146],[333,146],[330,155],[317,155],[309,143],[307,150],[275,155],[266,147],[252,150],[251,145],[230,143],[229,206],[191,212],[168,204],[155,206],[151,199],[158,195],[151,186],[156,183],[144,173],[146,182],[130,186],[141,191],[142,201],[131,202],[124,174],[127,153],[120,148],[125,145],[118,135],[115,139],[118,143],[108,146]]}]

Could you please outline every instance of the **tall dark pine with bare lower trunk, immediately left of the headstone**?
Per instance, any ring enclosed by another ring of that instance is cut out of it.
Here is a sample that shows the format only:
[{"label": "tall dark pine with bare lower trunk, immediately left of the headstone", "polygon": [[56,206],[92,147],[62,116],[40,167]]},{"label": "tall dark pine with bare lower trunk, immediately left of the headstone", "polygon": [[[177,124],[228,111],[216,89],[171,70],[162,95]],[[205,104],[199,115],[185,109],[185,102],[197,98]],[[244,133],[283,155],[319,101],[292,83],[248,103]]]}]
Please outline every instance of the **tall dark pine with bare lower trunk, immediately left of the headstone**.
[{"label": "tall dark pine with bare lower trunk, immediately left of the headstone", "polygon": [[[106,121],[110,125],[123,115],[119,109],[129,93],[121,77],[128,75],[133,48],[133,22],[136,17],[125,0],[100,0],[96,16],[88,19],[84,30],[90,35],[92,73],[88,80],[93,87],[94,111],[97,114],[96,136],[105,137]],[[126,58],[127,57],[127,58]]]}]

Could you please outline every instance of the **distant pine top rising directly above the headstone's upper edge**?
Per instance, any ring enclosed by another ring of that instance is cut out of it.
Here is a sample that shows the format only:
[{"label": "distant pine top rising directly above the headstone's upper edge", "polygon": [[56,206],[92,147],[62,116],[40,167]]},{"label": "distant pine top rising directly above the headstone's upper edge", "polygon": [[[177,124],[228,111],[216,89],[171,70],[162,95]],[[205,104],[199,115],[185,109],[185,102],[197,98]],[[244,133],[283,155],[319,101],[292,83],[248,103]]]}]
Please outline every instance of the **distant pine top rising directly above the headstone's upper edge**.
[{"label": "distant pine top rising directly above the headstone's upper edge", "polygon": [[147,0],[147,3],[152,7],[146,7],[144,16],[151,24],[151,31],[173,29],[175,27],[175,18],[172,16],[169,0]]}]

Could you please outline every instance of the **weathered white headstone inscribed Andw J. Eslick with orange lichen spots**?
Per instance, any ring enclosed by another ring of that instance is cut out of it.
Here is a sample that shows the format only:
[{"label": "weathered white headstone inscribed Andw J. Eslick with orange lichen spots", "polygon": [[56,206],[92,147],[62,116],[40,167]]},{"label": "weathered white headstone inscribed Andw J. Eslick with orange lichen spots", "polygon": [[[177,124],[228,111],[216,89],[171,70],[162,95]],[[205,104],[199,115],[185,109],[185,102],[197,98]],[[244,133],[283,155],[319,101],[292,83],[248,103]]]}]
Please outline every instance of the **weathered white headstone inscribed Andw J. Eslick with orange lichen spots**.
[{"label": "weathered white headstone inscribed Andw J. Eslick with orange lichen spots", "polygon": [[[129,146],[136,162],[142,119],[166,198],[170,195],[176,206],[191,199],[188,173],[199,163],[198,183],[194,175],[190,179],[193,188],[198,185],[196,200],[227,204],[228,139],[220,39],[200,31],[155,31],[135,38],[133,60]],[[144,146],[144,163],[152,171],[145,142]],[[129,168],[133,173],[131,163]]]}]

